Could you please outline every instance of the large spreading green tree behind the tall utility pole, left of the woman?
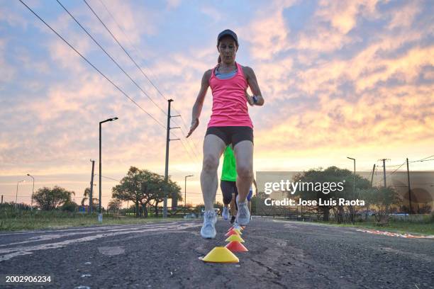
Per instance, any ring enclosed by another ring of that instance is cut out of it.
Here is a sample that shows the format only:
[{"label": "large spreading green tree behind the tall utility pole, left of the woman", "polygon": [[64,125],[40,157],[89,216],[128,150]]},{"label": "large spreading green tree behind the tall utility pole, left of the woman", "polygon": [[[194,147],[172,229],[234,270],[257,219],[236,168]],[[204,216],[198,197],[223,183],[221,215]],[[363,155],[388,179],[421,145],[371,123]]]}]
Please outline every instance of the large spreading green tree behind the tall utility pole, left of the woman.
[{"label": "large spreading green tree behind the tall utility pole, left of the woman", "polygon": [[180,192],[181,188],[170,179],[166,182],[159,174],[131,166],[121,183],[112,188],[112,198],[132,201],[135,204],[135,216],[139,217],[144,210],[147,217],[148,205],[152,200],[157,205],[164,199],[165,193],[169,197],[172,193],[177,193],[178,198],[182,200]]}]

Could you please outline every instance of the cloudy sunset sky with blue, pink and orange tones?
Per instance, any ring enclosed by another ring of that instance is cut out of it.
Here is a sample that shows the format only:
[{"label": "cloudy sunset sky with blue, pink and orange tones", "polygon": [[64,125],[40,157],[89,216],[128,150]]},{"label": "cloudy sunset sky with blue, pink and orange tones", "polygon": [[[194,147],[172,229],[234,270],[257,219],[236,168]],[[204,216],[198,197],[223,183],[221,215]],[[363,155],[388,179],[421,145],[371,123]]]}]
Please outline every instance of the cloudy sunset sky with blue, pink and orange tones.
[{"label": "cloudy sunset sky with blue, pink and orange tones", "polygon": [[[434,154],[432,1],[87,0],[139,64],[130,61],[84,1],[59,0],[143,91],[55,0],[23,0],[101,77],[19,1],[0,1],[0,193],[30,203],[35,190],[62,186],[79,203],[98,174],[122,179],[130,166],[165,171],[167,99],[174,99],[169,174],[187,201],[201,202],[201,146],[211,115],[186,139],[201,77],[216,65],[216,38],[238,34],[237,61],[254,69],[265,106],[250,108],[255,171],[339,166],[396,169]],[[157,87],[155,89],[152,83]],[[150,100],[152,99],[152,101]],[[152,115],[152,118],[148,115]],[[155,118],[155,119],[154,119]],[[402,169],[405,169],[404,166]],[[412,170],[433,170],[415,162]],[[221,169],[219,169],[220,173]],[[103,204],[118,182],[103,179]],[[97,183],[97,180],[96,180]],[[220,191],[220,190],[219,190]],[[218,197],[217,200],[221,199]]]}]

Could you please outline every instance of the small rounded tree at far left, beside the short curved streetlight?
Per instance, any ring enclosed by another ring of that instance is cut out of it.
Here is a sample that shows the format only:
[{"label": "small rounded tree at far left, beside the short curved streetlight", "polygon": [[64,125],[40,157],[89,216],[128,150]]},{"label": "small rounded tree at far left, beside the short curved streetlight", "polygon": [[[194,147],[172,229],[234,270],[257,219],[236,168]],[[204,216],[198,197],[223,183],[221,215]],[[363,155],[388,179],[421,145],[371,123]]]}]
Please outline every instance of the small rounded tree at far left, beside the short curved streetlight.
[{"label": "small rounded tree at far left, beside the short curved streetlight", "polygon": [[67,191],[60,186],[44,187],[33,194],[33,200],[41,210],[54,210],[66,202],[71,202],[72,195],[75,195],[73,191]]}]

